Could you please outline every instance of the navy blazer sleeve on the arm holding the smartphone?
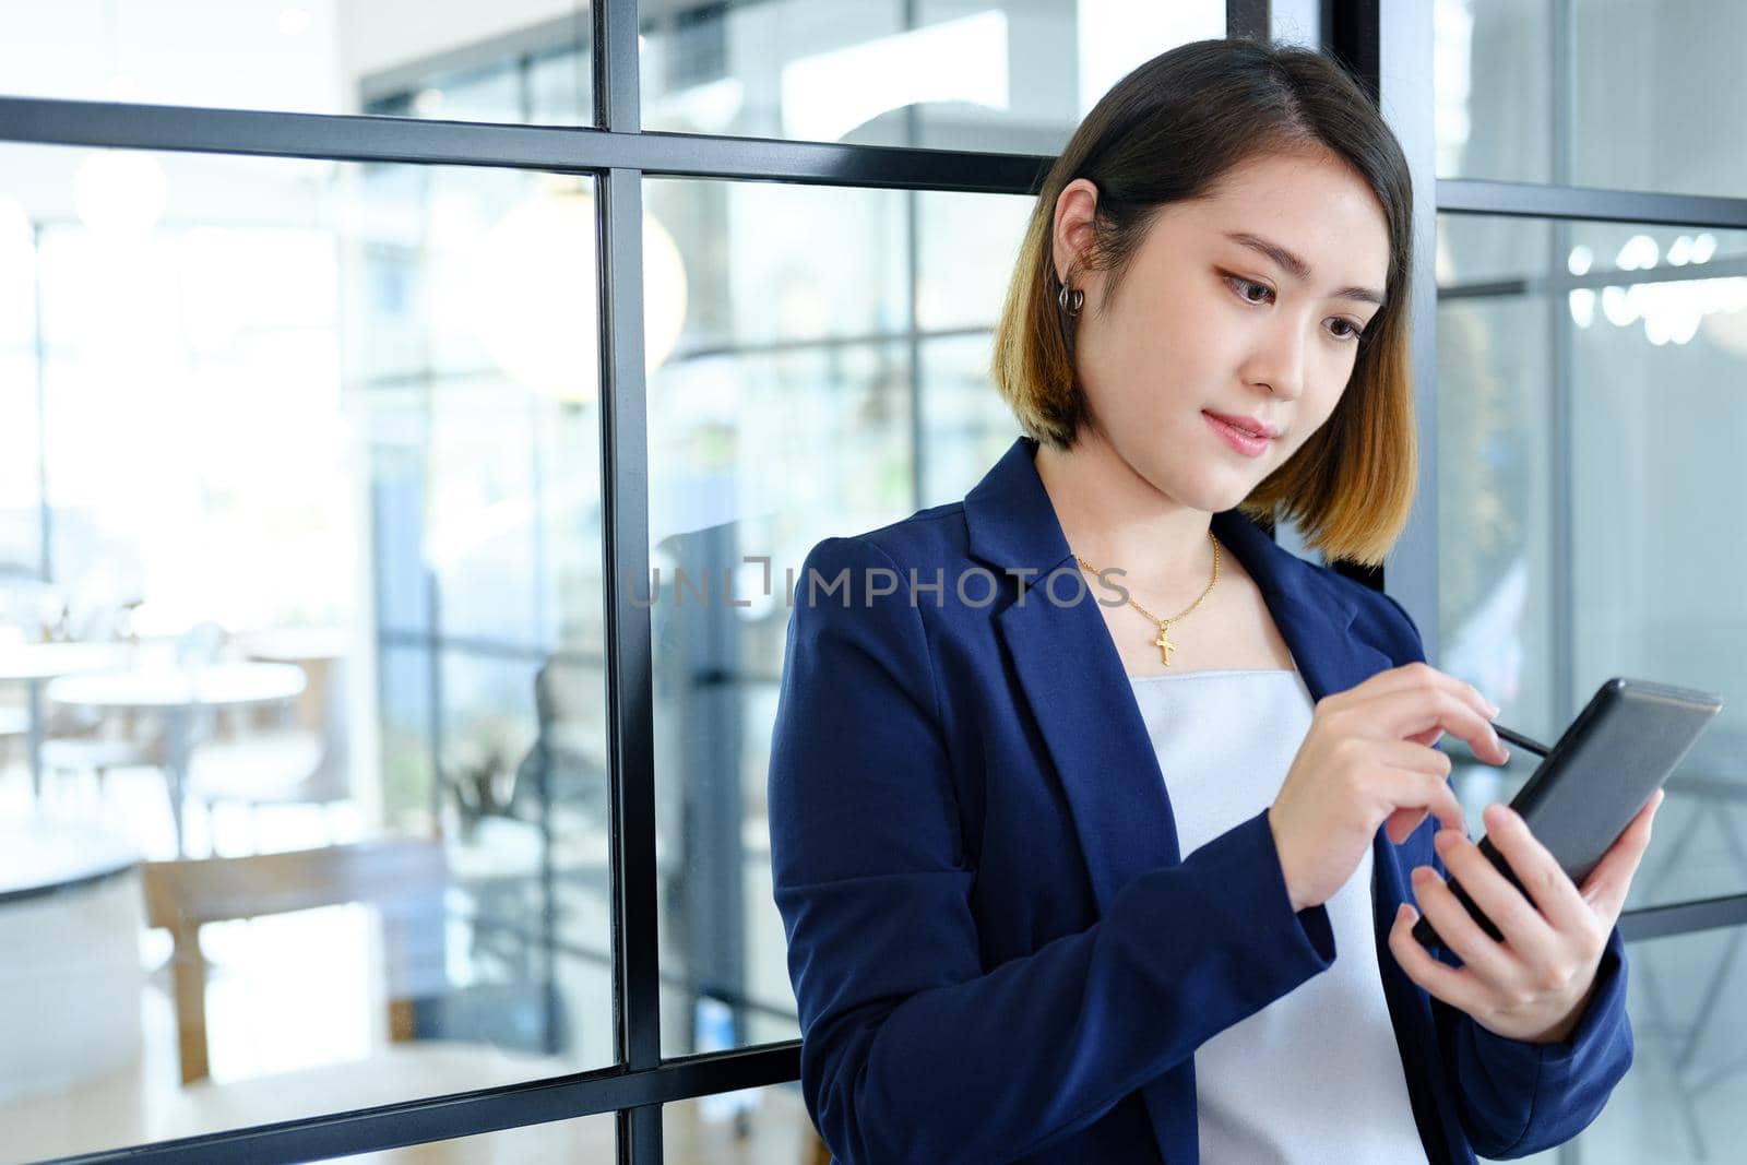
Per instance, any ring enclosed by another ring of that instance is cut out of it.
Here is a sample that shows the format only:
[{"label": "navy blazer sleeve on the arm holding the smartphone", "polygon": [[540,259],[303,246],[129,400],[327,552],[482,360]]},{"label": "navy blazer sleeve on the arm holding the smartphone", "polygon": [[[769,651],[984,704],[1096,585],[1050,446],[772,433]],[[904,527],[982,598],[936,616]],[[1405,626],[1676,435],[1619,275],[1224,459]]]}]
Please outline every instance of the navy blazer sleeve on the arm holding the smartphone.
[{"label": "navy blazer sleeve on the arm holding the smartphone", "polygon": [[[1406,610],[1408,658],[1426,658],[1419,627]],[[1426,828],[1436,828],[1427,823]],[[1431,847],[1426,847],[1433,852]],[[1447,875],[1436,856],[1431,865]],[[1460,959],[1441,952],[1450,966]],[[1459,1090],[1462,1125],[1474,1151],[1490,1158],[1541,1153],[1588,1128],[1607,1104],[1614,1085],[1632,1067],[1632,1022],[1626,1017],[1626,955],[1616,926],[1595,971],[1595,994],[1564,1043],[1537,1044],[1499,1036],[1471,1015],[1431,999],[1438,1046]]]}]

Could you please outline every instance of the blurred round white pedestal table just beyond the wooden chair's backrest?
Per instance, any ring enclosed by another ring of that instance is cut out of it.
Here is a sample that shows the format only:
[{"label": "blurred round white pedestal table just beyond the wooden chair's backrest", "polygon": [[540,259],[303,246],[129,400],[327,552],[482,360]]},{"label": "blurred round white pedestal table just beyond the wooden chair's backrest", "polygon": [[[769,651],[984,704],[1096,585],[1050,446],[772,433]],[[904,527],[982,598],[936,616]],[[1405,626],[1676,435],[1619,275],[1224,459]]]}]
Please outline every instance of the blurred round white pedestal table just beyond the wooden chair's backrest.
[{"label": "blurred round white pedestal table just beyond the wooden chair's backrest", "polygon": [[128,711],[159,711],[168,716],[169,814],[176,830],[176,856],[187,856],[182,835],[182,798],[189,777],[189,721],[203,707],[250,707],[293,699],[307,678],[295,664],[208,664],[197,669],[108,671],[61,676],[49,683],[47,697],[58,704]]}]

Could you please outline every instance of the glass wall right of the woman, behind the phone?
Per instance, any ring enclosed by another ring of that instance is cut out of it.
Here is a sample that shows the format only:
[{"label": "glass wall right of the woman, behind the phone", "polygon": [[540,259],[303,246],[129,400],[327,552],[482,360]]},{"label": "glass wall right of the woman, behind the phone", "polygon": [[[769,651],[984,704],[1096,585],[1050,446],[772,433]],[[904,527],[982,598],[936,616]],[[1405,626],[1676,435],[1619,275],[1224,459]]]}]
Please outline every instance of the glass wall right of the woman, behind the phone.
[{"label": "glass wall right of the woman, behind the phone", "polygon": [[[1744,189],[1726,3],[1440,0],[1438,173],[1658,194]],[[1696,208],[1695,208],[1696,210]],[[1747,894],[1738,500],[1747,232],[1445,215],[1438,300],[1443,664],[1557,737],[1611,676],[1724,707],[1668,781],[1628,910]],[[1532,772],[1459,765],[1471,812]],[[1546,1162],[1705,1162],[1742,1135],[1742,927],[1630,947],[1637,1057]]]}]

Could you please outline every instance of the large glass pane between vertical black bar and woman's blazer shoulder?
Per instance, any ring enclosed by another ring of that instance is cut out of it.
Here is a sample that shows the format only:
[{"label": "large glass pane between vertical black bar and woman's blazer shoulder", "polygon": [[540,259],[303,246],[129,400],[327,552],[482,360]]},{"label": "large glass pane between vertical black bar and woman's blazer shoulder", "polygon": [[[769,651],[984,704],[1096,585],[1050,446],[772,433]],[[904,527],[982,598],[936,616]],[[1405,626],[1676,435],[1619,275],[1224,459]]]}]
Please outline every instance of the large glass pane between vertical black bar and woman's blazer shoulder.
[{"label": "large glass pane between vertical black bar and woman's blazer shoulder", "polygon": [[646,204],[690,290],[648,423],[662,1050],[683,1055],[798,1034],[763,803],[795,573],[821,538],[963,498],[1012,444],[987,367],[1029,199],[650,182]]}]

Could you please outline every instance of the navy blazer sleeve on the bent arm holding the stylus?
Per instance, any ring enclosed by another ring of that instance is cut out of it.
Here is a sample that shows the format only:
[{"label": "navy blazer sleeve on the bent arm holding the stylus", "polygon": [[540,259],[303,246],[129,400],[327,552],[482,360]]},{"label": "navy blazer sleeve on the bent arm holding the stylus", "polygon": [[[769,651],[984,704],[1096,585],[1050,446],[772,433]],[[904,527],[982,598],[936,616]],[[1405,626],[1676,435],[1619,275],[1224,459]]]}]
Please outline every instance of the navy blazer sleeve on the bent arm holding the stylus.
[{"label": "navy blazer sleeve on the bent arm holding the stylus", "polygon": [[[812,601],[812,573],[847,592]],[[1039,1151],[1335,957],[1267,816],[1141,875],[1102,917],[984,966],[921,604],[861,538],[807,555],[770,746],[770,856],[807,1111],[839,1162]],[[884,589],[880,583],[877,589]],[[844,601],[847,599],[847,606]]]}]

